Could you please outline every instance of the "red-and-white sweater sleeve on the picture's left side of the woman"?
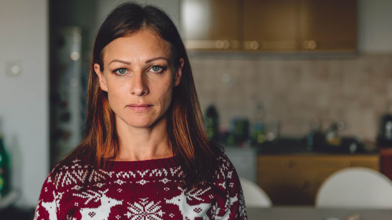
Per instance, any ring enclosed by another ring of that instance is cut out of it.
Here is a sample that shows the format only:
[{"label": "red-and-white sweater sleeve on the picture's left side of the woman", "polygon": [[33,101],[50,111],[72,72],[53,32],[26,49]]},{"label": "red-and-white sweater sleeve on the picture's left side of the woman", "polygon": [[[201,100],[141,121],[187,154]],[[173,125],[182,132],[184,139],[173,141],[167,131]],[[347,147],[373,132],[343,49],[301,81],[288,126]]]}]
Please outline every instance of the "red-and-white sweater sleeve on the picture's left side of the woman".
[{"label": "red-and-white sweater sleeve on the picture's left side of the woman", "polygon": [[56,187],[51,178],[52,172],[42,185],[40,197],[35,208],[34,220],[56,220],[57,201],[60,199],[56,194]]}]

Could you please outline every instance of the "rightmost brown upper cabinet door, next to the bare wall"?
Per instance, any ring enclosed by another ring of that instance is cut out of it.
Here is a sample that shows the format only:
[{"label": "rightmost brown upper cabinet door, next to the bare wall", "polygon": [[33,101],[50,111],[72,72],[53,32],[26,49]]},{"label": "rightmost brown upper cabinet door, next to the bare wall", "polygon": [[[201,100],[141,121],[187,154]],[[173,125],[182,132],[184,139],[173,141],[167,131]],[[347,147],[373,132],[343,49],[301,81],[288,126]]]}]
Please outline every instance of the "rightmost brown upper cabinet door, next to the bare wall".
[{"label": "rightmost brown upper cabinet door, next to the bare wall", "polygon": [[356,50],[356,0],[300,0],[303,50]]}]

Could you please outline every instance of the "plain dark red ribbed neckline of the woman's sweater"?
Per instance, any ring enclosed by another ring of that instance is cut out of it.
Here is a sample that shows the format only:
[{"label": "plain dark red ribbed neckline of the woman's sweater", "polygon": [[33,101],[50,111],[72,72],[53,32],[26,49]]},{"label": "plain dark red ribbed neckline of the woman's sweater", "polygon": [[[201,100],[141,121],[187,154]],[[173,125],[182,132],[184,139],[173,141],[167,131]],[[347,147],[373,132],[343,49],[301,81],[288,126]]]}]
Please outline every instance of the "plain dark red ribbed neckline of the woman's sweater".
[{"label": "plain dark red ribbed neckline of the woman's sweater", "polygon": [[106,169],[113,165],[115,171],[152,170],[180,166],[174,157],[138,161],[113,161],[106,162]]}]

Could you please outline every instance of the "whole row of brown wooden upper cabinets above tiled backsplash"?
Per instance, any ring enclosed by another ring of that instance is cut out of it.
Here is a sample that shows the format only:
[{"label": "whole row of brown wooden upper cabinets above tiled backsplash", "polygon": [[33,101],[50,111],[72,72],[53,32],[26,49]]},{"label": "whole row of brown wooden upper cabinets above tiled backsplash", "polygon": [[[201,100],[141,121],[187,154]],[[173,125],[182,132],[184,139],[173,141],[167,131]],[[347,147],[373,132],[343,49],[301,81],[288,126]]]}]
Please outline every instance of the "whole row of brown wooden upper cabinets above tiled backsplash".
[{"label": "whole row of brown wooden upper cabinets above tiled backsplash", "polygon": [[357,0],[183,0],[188,49],[355,51]]}]

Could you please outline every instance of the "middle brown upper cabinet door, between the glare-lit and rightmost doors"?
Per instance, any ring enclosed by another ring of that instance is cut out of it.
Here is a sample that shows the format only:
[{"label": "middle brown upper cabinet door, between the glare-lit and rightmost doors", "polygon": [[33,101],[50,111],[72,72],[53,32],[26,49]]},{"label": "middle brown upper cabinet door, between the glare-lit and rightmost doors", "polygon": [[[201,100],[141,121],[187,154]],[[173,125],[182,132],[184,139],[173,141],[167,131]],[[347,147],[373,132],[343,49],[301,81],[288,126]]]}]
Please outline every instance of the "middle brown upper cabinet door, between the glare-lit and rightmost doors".
[{"label": "middle brown upper cabinet door, between the glare-lit and rightmost doors", "polygon": [[298,0],[244,0],[244,49],[298,50]]}]

